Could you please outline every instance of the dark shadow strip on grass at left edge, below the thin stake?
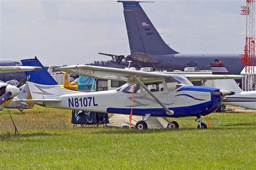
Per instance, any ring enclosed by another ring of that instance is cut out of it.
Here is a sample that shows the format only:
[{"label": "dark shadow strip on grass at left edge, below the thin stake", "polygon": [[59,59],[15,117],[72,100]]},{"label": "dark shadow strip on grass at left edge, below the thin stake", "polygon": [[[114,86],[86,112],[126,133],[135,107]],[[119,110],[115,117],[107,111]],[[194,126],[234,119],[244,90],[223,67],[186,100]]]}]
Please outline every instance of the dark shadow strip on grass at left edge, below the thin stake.
[{"label": "dark shadow strip on grass at left edge, below the thin stake", "polygon": [[43,133],[43,132],[37,132],[37,133],[25,133],[25,134],[13,134],[13,133],[6,133],[6,134],[0,134],[0,140],[6,141],[6,140],[14,140],[17,138],[28,138],[28,137],[48,137],[48,136],[57,136],[60,134],[55,133]]}]

